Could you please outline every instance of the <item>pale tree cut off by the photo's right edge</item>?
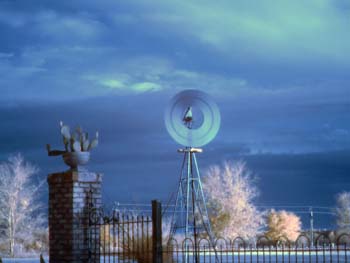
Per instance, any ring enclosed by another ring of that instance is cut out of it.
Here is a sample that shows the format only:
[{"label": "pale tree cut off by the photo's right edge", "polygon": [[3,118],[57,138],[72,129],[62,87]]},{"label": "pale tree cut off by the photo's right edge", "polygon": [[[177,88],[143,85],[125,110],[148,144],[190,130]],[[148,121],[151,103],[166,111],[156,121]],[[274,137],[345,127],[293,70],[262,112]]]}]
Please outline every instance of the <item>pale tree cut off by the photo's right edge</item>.
[{"label": "pale tree cut off by the photo's right edge", "polygon": [[341,231],[350,232],[350,192],[343,192],[336,197],[335,214]]}]

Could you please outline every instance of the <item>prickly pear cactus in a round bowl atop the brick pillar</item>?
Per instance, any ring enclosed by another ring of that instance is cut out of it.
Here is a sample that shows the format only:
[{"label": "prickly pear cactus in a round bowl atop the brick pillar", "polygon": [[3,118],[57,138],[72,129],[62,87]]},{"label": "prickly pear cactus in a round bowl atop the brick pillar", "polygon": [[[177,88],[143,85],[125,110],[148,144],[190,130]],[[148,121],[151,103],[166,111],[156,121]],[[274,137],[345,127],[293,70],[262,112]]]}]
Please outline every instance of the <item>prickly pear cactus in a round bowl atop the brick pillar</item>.
[{"label": "prickly pear cactus in a round bowl atop the brick pillar", "polygon": [[47,144],[48,155],[62,155],[63,161],[71,169],[77,169],[79,166],[87,164],[90,159],[90,151],[98,145],[99,133],[96,132],[96,137],[90,140],[89,134],[84,132],[80,126],[72,132],[69,126],[63,124],[62,121],[60,122],[60,131],[63,137],[64,150],[51,150],[50,144]]}]

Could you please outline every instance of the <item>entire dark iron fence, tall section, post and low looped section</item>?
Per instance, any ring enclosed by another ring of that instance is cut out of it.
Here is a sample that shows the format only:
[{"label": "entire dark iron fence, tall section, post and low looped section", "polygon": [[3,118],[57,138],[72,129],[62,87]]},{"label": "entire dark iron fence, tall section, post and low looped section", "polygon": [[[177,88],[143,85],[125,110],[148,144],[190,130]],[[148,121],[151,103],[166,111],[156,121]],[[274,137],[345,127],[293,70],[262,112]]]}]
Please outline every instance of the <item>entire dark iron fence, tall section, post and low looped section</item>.
[{"label": "entire dark iron fence, tall section, post and low looped section", "polygon": [[90,213],[89,239],[91,258],[100,262],[139,263],[271,263],[271,262],[349,262],[350,236],[330,240],[319,235],[314,242],[301,235],[294,242],[287,238],[255,240],[237,237],[233,240],[203,238],[161,239],[160,206],[154,206],[152,217],[134,216],[102,210]]}]

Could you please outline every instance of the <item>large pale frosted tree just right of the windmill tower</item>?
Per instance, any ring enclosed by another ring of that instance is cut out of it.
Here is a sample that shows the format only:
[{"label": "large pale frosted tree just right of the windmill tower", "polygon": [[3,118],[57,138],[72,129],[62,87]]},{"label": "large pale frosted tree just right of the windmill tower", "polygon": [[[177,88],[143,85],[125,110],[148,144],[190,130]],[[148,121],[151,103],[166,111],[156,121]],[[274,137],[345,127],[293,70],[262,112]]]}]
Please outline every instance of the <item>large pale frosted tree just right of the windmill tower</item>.
[{"label": "large pale frosted tree just right of the windmill tower", "polygon": [[263,214],[253,204],[258,196],[245,163],[212,166],[203,181],[213,232],[226,238],[254,238],[264,225]]}]

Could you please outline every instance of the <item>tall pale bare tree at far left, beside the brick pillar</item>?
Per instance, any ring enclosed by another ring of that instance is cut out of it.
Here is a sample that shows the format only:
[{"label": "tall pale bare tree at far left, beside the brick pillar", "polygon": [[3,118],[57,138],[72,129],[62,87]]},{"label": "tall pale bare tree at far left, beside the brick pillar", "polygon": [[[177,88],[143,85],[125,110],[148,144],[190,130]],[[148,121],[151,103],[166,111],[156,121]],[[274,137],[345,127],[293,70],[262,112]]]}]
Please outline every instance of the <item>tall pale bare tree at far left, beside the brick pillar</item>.
[{"label": "tall pale bare tree at far left, beside the brick pillar", "polygon": [[0,164],[0,234],[12,257],[16,248],[30,246],[43,229],[45,221],[36,199],[42,183],[32,182],[37,171],[21,155]]}]

